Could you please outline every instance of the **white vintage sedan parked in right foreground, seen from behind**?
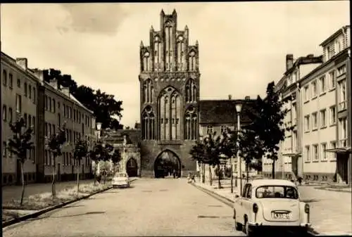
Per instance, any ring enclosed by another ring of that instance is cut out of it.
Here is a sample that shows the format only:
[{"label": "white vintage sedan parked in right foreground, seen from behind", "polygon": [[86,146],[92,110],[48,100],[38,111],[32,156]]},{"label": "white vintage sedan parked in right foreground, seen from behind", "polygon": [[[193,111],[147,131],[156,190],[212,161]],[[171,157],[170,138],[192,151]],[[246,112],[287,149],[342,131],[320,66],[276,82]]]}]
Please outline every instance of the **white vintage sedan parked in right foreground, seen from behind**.
[{"label": "white vintage sedan parked in right foreground, seen from behind", "polygon": [[283,229],[306,235],[309,205],[300,200],[294,183],[283,179],[256,179],[234,198],[234,227],[247,236],[258,229]]}]

